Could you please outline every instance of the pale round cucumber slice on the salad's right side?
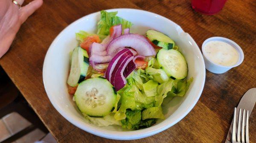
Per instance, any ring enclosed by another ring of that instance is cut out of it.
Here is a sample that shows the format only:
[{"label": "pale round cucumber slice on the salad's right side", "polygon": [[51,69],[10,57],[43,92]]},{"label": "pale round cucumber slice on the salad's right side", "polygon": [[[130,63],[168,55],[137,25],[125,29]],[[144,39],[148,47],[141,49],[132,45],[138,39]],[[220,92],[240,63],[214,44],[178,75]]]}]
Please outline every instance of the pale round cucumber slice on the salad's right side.
[{"label": "pale round cucumber slice on the salad's right side", "polygon": [[184,79],[188,74],[186,60],[177,50],[159,50],[157,53],[157,62],[169,77]]}]

